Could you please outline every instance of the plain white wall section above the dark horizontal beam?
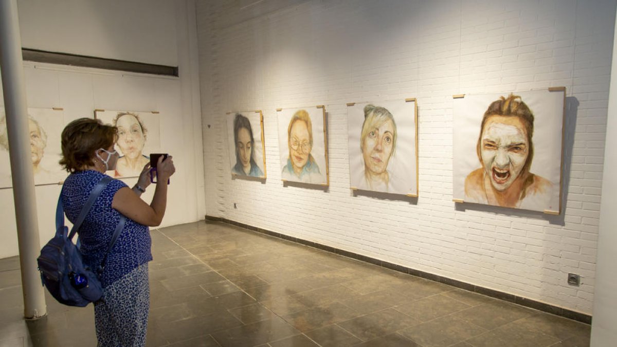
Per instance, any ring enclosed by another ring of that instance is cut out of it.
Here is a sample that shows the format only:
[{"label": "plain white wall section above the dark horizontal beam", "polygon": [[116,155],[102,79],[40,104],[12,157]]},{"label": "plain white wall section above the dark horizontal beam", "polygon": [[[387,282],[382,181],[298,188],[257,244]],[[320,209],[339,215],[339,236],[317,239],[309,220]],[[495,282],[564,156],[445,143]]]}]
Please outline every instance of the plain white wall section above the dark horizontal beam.
[{"label": "plain white wall section above the dark horizontal beam", "polygon": [[20,0],[22,46],[177,66],[176,2]]}]

